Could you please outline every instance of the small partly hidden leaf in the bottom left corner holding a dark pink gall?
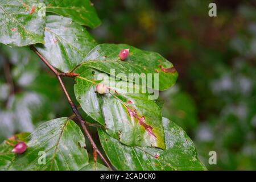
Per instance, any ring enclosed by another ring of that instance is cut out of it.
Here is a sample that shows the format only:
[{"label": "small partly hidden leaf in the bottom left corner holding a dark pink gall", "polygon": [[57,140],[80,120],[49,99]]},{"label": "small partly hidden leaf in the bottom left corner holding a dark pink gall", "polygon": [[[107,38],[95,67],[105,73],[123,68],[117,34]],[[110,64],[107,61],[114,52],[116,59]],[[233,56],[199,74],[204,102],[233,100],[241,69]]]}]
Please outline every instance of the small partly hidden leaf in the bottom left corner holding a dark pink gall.
[{"label": "small partly hidden leaf in the bottom left corner holding a dark pink gall", "polygon": [[13,145],[17,144],[18,140],[27,142],[26,138],[28,135],[29,133],[16,134],[0,144],[0,171],[9,169],[15,159],[15,154],[11,152]]}]

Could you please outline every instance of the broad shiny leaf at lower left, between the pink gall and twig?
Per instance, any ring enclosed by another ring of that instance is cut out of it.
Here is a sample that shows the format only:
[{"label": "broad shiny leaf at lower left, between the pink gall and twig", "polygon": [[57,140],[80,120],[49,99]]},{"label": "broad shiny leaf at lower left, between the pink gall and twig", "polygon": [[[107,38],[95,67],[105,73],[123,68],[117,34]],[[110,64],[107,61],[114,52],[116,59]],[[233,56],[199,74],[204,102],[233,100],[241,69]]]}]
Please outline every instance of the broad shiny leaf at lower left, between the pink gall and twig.
[{"label": "broad shiny leaf at lower left, between the pink gall and twig", "polygon": [[79,170],[89,163],[84,135],[68,118],[44,122],[27,140],[27,151],[16,155],[11,170]]}]

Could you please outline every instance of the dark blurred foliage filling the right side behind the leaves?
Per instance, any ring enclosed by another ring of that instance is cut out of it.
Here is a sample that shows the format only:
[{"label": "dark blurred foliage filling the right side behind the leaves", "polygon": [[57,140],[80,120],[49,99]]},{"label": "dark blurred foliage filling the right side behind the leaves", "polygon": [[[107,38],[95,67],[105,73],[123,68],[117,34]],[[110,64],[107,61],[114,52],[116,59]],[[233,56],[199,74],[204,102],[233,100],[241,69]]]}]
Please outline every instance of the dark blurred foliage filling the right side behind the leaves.
[{"label": "dark blurred foliage filling the right side behind the leaves", "polygon": [[[215,2],[217,17],[208,16]],[[174,63],[163,116],[183,127],[208,169],[256,169],[256,1],[94,1],[98,42],[127,43]],[[217,165],[208,164],[209,151]]]}]

